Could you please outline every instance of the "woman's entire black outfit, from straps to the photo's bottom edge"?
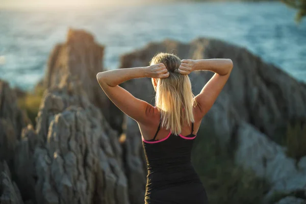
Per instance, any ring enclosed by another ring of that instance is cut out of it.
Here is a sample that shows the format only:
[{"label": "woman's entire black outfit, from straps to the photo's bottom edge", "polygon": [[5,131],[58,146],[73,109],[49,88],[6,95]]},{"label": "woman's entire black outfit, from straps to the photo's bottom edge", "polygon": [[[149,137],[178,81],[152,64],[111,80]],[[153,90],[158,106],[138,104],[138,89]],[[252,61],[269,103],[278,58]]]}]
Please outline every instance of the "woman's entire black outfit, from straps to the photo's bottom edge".
[{"label": "woman's entire black outfit, from straps to the photo's bottom edge", "polygon": [[[186,136],[169,131],[160,140],[142,138],[148,169],[146,203],[151,199],[157,201],[159,197],[163,197],[159,203],[191,203],[192,197],[192,203],[208,202],[205,189],[191,164],[191,150],[196,138],[193,126],[192,123],[190,134]],[[160,125],[155,137],[159,130]],[[182,190],[184,194],[180,195]]]}]

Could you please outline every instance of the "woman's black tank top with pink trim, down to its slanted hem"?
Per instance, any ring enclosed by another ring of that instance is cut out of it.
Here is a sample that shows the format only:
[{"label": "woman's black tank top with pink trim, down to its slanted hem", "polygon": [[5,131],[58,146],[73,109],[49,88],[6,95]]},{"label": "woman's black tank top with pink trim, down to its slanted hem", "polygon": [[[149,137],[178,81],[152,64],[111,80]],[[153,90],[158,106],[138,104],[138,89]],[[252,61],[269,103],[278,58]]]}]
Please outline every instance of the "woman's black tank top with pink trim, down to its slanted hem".
[{"label": "woman's black tank top with pink trim, down to its slanted hem", "polygon": [[145,158],[147,162],[146,195],[151,191],[186,183],[201,183],[191,164],[191,149],[196,135],[174,135],[170,133],[161,140],[155,140],[160,130],[152,140],[144,140]]}]

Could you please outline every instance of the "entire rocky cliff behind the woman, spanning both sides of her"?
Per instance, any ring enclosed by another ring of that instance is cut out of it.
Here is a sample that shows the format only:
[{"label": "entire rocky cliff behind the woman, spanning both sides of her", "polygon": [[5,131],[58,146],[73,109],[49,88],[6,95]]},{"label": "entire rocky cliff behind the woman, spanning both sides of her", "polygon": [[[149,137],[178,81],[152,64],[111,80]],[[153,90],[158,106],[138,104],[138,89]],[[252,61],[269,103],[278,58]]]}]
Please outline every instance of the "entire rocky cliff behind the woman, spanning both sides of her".
[{"label": "entire rocky cliff behind the woman, spanning both sides of her", "polygon": [[[202,120],[194,164],[205,166],[207,139],[216,139],[218,154],[226,152],[230,163],[269,183],[263,202],[304,202],[306,157],[289,156],[282,139],[288,124],[306,118],[306,85],[245,48],[209,38],[149,43],[121,56],[120,68],[147,66],[159,52],[174,52],[181,59],[230,58],[234,63],[230,79]],[[105,70],[103,56],[104,46],[91,34],[69,30],[66,42],[50,54],[36,126],[17,107],[14,91],[0,83],[0,140],[9,144],[0,147],[5,175],[0,178],[1,203],[143,203],[147,172],[141,135],[137,123],[112,105],[95,80]],[[195,94],[212,74],[190,74]],[[154,103],[150,79],[121,86]]]}]

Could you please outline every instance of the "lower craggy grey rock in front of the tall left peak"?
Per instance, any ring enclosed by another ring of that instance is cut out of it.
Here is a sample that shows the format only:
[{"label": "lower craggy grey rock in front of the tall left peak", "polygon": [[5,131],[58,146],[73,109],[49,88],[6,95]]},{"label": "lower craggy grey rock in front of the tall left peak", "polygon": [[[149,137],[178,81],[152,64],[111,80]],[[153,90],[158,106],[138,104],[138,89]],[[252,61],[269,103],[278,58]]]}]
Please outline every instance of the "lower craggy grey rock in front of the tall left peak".
[{"label": "lower craggy grey rock in front of the tall left peak", "polygon": [[129,203],[118,133],[82,86],[68,74],[45,92],[15,154],[20,187],[40,204]]}]

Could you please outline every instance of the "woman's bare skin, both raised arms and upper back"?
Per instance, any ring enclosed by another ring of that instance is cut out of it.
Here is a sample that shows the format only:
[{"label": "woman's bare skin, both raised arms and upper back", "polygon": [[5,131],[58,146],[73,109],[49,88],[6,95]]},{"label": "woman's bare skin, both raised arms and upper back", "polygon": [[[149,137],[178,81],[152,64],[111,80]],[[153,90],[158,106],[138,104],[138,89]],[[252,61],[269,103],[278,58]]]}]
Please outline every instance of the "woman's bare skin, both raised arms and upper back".
[{"label": "woman's bare skin, both raised arms and upper back", "polygon": [[[213,77],[195,96],[197,106],[194,107],[194,132],[196,134],[202,118],[211,109],[233,69],[231,59],[208,59],[208,60],[182,60],[179,72],[189,74],[194,70],[208,70],[215,72]],[[130,92],[118,86],[119,84],[137,78],[152,78],[156,86],[157,80],[169,77],[169,72],[164,64],[156,64],[147,67],[135,67],[115,69],[97,73],[97,80],[101,88],[113,103],[126,115],[137,121],[140,132],[145,140],[154,137],[160,120],[158,110],[146,101],[134,97]],[[184,126],[182,135],[189,135],[191,127]],[[163,139],[169,130],[161,129],[156,139]]]}]

